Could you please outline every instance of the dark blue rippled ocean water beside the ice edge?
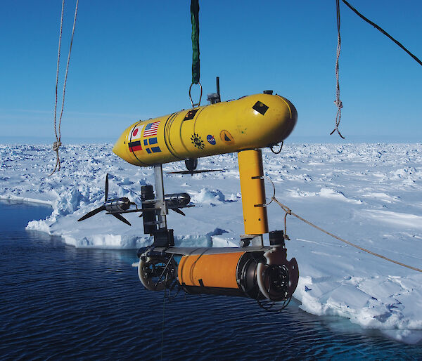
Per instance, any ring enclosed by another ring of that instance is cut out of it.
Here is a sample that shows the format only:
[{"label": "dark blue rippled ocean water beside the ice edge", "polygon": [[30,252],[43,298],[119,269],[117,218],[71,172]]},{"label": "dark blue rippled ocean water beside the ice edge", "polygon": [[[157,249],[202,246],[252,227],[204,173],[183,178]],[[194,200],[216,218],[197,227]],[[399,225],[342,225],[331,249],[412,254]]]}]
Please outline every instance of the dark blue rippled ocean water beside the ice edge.
[{"label": "dark blue rippled ocean water beside the ice edge", "polygon": [[2,360],[422,360],[421,344],[309,315],[294,301],[283,313],[224,296],[164,303],[139,282],[136,251],[75,249],[25,231],[50,212],[0,202]]}]

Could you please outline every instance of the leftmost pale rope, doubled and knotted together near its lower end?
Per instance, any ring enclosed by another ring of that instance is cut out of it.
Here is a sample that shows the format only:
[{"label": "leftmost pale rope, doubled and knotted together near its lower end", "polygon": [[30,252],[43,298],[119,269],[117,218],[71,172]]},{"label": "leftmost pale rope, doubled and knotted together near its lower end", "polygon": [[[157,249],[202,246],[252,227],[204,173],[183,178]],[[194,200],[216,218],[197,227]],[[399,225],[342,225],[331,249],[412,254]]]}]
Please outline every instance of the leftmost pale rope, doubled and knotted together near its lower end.
[{"label": "leftmost pale rope, doubled and knotted together near its lower end", "polygon": [[69,55],[68,55],[68,63],[66,64],[66,72],[65,72],[65,81],[63,83],[63,98],[62,98],[62,105],[60,111],[60,118],[58,121],[58,131],[56,127],[56,118],[57,118],[57,88],[58,88],[58,70],[60,65],[60,46],[61,46],[61,38],[63,32],[63,12],[65,8],[65,0],[62,2],[62,11],[61,11],[61,18],[60,18],[60,34],[58,37],[58,53],[57,53],[57,72],[56,72],[56,102],[54,103],[54,133],[56,133],[56,141],[53,143],[53,150],[56,152],[56,166],[54,166],[53,171],[50,173],[49,177],[53,175],[53,173],[60,171],[60,157],[58,155],[58,149],[62,145],[61,143],[61,119],[63,117],[63,109],[65,107],[65,89],[66,89],[66,81],[68,81],[68,71],[69,71],[69,63],[70,63],[70,53],[72,52],[72,44],[73,44],[73,36],[75,35],[75,25],[76,25],[76,17],[77,17],[77,7],[79,4],[79,0],[76,0],[75,6],[75,17],[73,18],[73,28],[72,28],[72,37],[70,39],[70,46],[69,46]]}]

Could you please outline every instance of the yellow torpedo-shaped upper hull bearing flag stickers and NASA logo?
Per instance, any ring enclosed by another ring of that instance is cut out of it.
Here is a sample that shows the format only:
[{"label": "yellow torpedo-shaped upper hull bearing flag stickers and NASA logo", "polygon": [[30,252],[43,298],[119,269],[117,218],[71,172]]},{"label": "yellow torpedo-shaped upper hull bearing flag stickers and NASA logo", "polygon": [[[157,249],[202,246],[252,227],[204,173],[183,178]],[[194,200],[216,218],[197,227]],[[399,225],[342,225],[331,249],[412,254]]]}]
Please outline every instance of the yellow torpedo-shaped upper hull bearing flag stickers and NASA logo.
[{"label": "yellow torpedo-shaped upper hull bearing flag stickers and NASA logo", "polygon": [[281,96],[256,94],[182,110],[129,126],[113,147],[131,164],[151,166],[280,143],[298,114]]}]

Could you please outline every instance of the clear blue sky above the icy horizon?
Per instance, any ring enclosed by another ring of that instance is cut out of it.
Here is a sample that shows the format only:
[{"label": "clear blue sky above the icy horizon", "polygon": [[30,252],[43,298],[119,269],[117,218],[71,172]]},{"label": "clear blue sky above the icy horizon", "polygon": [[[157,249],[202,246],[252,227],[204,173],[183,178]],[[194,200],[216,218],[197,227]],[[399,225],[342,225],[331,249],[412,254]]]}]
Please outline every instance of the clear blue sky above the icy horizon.
[{"label": "clear blue sky above the icy horizon", "polygon": [[[422,58],[422,2],[351,0]],[[222,100],[272,89],[298,109],[291,140],[422,141],[422,67],[340,1],[343,114],[333,129],[335,1],[200,0],[200,81]],[[5,1],[0,141],[53,142],[61,1]],[[66,1],[63,84],[75,1]],[[79,0],[62,140],[113,141],[137,119],[190,107],[190,1]],[[205,98],[205,99],[204,99]],[[60,100],[60,98],[59,98]],[[290,140],[290,141],[291,141]]]}]

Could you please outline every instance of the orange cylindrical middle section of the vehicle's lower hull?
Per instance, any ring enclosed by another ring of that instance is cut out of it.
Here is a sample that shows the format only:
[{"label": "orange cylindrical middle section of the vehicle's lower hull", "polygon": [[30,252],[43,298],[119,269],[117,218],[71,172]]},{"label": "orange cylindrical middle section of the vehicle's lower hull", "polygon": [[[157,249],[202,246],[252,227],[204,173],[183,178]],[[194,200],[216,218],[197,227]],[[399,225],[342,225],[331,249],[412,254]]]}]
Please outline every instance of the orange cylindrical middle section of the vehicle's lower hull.
[{"label": "orange cylindrical middle section of the vehicle's lower hull", "polygon": [[245,252],[183,256],[177,275],[180,284],[238,289],[236,269]]}]

